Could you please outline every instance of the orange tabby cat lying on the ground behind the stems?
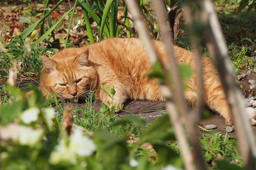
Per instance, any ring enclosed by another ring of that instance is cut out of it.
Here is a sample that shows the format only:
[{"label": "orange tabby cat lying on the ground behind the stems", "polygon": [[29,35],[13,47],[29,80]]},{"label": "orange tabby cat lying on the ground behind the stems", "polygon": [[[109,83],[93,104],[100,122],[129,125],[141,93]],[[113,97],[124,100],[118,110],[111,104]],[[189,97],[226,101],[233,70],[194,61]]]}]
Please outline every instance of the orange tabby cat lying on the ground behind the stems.
[{"label": "orange tabby cat lying on the ground behind the stems", "polygon": [[[166,63],[166,50],[162,42],[154,41],[157,53]],[[177,61],[191,66],[195,73],[194,54],[174,46]],[[136,38],[111,38],[82,48],[67,48],[52,57],[42,56],[44,67],[40,82],[49,92],[58,97],[77,99],[99,85],[114,87],[113,104],[122,104],[126,99],[164,101],[160,87],[148,78],[151,64],[143,42]],[[203,58],[205,102],[213,111],[219,112],[228,125],[232,125],[230,109],[221,86],[218,73],[209,58]],[[197,100],[195,74],[187,81],[186,99]],[[47,91],[42,90],[44,95]],[[107,103],[111,98],[103,90],[96,97]]]}]

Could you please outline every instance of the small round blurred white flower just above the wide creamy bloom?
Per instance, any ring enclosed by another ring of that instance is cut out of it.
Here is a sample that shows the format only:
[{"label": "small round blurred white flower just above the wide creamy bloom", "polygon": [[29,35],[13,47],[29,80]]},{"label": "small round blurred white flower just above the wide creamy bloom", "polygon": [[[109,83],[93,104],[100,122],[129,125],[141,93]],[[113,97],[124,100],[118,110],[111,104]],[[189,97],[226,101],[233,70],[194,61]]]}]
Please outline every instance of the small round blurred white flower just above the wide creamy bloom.
[{"label": "small round blurred white flower just above the wide creamy bloom", "polygon": [[40,110],[36,107],[29,108],[26,111],[24,111],[21,115],[22,122],[29,124],[31,122],[35,122],[38,119],[38,114],[40,113]]}]

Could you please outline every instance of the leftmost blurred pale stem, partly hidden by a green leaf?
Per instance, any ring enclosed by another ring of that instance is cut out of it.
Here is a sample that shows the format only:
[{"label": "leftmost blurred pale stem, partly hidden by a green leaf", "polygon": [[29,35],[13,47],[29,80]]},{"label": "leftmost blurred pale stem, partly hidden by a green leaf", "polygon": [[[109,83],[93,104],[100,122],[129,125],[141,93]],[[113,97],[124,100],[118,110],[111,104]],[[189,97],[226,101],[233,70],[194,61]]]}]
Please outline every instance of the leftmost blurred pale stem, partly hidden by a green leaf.
[{"label": "leftmost blurred pale stem, partly hidden by a green leaf", "polygon": [[[138,30],[140,31],[140,35],[145,44],[146,51],[148,52],[149,60],[150,60],[151,64],[153,65],[157,60],[156,51],[154,50],[154,46],[153,46],[153,44],[151,42],[151,38],[148,34],[148,29],[145,26],[145,23],[143,22],[143,19],[141,17],[139,8],[137,6],[137,2],[135,0],[125,0],[125,3],[128,6],[128,10],[131,11],[134,22],[135,22]],[[176,65],[176,68],[177,68],[177,65]],[[180,80],[180,82],[181,82],[181,80]],[[182,87],[181,84],[180,84],[180,87]],[[163,94],[165,94],[165,95],[170,94],[169,88],[162,87],[162,90],[167,91],[167,93],[163,92]],[[185,167],[187,170],[194,170],[195,168],[194,168],[194,164],[193,164],[192,155],[189,151],[189,144],[188,144],[188,141],[184,134],[184,131],[182,129],[182,121],[177,113],[177,108],[172,103],[170,96],[166,96],[166,99],[167,99],[167,107],[169,110],[169,116],[171,117],[173,126],[175,127],[175,130],[176,130],[175,134],[176,134],[177,141],[180,143],[180,147],[181,147],[180,149],[183,154]],[[185,101],[185,99],[184,99],[184,101]],[[186,105],[185,105],[185,108],[187,108]]]}]

